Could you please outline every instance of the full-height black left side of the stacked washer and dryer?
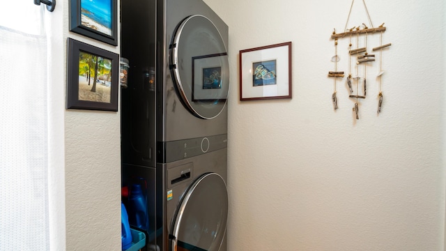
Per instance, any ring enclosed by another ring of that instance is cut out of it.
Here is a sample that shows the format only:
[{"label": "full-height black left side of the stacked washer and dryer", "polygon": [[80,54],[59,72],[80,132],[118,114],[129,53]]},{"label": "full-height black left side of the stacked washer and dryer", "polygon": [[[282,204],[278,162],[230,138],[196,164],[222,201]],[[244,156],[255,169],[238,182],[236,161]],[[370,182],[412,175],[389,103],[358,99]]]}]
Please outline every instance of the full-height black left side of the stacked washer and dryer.
[{"label": "full-height black left side of the stacked washer and dryer", "polygon": [[121,182],[127,188],[138,181],[146,184],[148,229],[139,229],[146,234],[146,246],[142,251],[163,250],[159,243],[163,227],[158,219],[162,211],[159,207],[162,208],[163,193],[158,188],[162,171],[155,165],[159,2],[121,1],[121,56],[130,64],[128,88],[121,89]]}]

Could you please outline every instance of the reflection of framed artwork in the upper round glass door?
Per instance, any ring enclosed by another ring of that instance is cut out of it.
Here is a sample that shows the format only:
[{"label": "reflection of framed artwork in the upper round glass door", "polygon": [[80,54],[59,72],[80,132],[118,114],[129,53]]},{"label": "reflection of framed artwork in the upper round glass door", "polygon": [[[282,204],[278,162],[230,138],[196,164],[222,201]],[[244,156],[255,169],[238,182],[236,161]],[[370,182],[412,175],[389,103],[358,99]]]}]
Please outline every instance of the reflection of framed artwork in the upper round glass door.
[{"label": "reflection of framed artwork in the upper round glass door", "polygon": [[192,101],[226,100],[229,74],[226,53],[192,58]]}]

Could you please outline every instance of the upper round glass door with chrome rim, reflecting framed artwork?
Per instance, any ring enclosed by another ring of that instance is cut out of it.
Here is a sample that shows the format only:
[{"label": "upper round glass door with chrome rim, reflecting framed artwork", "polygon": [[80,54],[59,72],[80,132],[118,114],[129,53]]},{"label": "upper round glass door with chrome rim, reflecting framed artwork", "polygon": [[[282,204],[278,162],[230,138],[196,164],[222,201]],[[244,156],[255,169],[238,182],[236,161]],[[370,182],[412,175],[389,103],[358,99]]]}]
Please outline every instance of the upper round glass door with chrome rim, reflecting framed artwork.
[{"label": "upper round glass door with chrome rim, reflecting framed artwork", "polygon": [[229,61],[220,32],[207,17],[192,15],[176,29],[170,68],[183,105],[201,119],[213,119],[226,105]]}]

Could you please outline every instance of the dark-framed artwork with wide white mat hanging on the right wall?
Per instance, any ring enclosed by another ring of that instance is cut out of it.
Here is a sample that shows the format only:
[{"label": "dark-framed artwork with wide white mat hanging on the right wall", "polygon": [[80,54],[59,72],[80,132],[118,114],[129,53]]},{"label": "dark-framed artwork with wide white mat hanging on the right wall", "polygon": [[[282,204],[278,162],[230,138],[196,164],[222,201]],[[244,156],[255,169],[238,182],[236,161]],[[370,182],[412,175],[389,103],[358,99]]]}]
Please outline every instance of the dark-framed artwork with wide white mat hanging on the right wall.
[{"label": "dark-framed artwork with wide white mat hanging on the right wall", "polygon": [[291,42],[240,50],[240,100],[291,98]]}]

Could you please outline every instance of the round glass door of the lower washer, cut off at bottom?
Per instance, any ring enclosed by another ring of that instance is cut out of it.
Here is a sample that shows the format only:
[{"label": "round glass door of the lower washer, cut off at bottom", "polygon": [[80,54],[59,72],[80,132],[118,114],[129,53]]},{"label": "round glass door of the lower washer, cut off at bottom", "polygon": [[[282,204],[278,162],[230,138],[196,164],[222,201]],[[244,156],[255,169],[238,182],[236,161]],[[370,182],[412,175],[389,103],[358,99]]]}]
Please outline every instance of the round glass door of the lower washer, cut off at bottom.
[{"label": "round glass door of the lower washer, cut off at bottom", "polygon": [[180,203],[171,232],[171,250],[219,250],[227,217],[228,193],[222,176],[204,174]]}]

